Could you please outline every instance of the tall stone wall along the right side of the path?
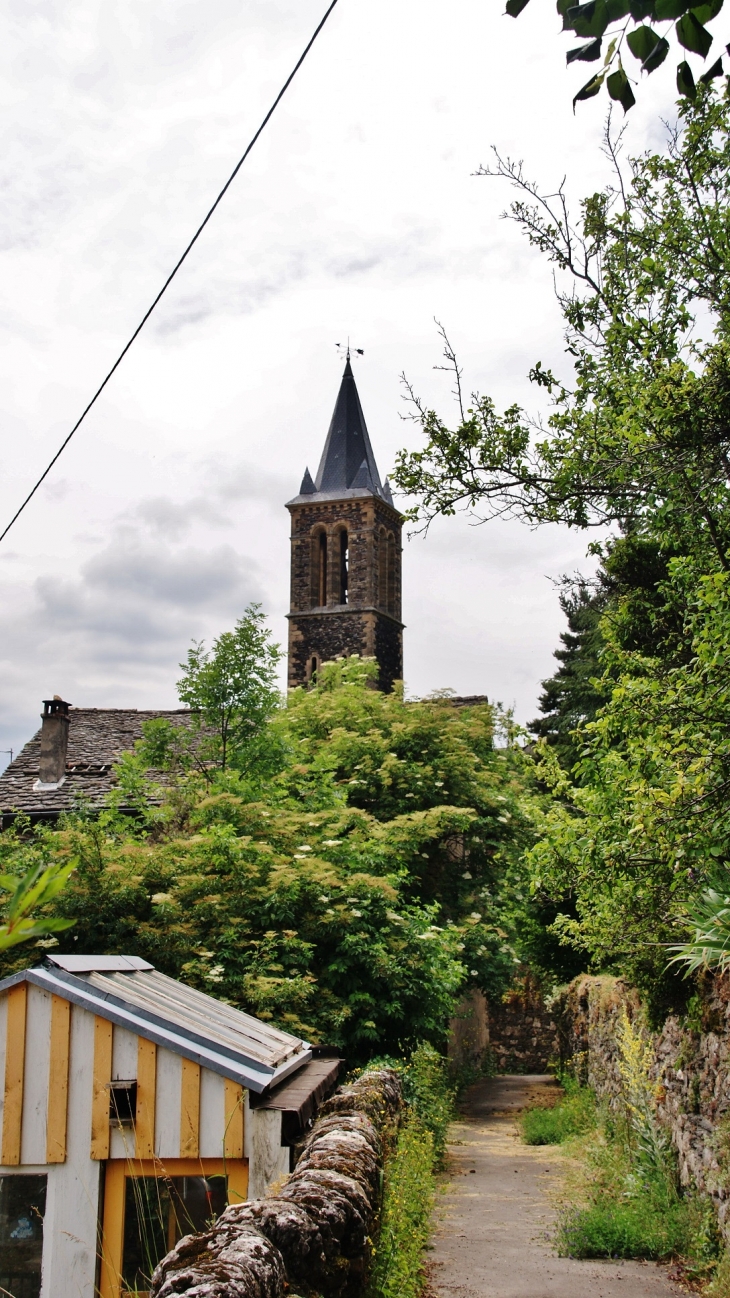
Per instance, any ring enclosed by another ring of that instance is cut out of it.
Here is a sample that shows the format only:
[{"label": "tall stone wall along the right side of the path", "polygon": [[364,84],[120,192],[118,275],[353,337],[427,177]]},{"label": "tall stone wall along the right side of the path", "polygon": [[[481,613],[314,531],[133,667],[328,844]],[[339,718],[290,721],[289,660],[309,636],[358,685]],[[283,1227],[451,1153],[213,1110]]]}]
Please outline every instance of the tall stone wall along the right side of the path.
[{"label": "tall stone wall along the right side of the path", "polygon": [[[599,1096],[621,1096],[617,1027],[622,1010],[643,1024],[636,992],[612,977],[575,979],[555,1012],[564,1062]],[[677,1149],[682,1184],[716,1201],[730,1237],[730,977],[707,976],[688,1020],[644,1028],[653,1050],[656,1114]]]}]

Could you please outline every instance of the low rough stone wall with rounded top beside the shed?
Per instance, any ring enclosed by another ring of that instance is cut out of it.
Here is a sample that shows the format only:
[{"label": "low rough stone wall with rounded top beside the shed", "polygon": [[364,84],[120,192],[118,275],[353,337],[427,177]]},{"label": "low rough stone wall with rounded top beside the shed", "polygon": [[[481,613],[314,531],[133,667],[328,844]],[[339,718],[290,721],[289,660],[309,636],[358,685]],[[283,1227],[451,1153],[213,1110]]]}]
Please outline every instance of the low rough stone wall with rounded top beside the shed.
[{"label": "low rough stone wall with rounded top beside the shed", "polygon": [[231,1205],[160,1263],[151,1298],[357,1298],[379,1208],[383,1140],[403,1105],[397,1073],[371,1070],[322,1106],[278,1193]]}]

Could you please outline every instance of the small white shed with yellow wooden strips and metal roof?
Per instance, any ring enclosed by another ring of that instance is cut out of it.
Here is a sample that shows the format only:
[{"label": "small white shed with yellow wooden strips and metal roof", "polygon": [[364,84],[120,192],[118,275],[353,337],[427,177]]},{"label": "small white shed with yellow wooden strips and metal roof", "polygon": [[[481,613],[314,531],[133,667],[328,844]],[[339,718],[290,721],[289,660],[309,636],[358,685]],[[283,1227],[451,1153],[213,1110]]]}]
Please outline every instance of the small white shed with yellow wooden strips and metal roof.
[{"label": "small white shed with yellow wooden strips and metal roof", "polygon": [[288,1172],[292,1114],[336,1070],[136,957],[0,981],[0,1293],[144,1294],[177,1240]]}]

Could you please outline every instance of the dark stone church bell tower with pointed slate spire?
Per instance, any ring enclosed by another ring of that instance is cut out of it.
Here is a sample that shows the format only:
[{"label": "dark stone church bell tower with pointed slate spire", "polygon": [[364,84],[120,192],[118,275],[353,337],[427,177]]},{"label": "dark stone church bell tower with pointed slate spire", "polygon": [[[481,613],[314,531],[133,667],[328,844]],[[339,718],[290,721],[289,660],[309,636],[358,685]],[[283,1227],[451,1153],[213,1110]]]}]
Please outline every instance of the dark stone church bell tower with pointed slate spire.
[{"label": "dark stone church bell tower with pointed slate spire", "polygon": [[387,478],[381,485],[349,354],[317,478],[305,470],[287,509],[290,689],[348,654],[375,658],[379,688],[392,689],[403,678],[403,518]]}]

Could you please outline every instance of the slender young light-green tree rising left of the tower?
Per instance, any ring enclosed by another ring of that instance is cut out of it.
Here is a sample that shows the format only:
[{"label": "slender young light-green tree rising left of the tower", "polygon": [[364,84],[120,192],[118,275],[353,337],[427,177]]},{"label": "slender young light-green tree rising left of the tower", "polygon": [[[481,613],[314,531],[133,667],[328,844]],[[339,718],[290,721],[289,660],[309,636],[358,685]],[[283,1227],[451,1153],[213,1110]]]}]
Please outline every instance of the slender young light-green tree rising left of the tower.
[{"label": "slender young light-green tree rising left of the tower", "polygon": [[[181,663],[178,696],[196,714],[199,757],[222,770],[251,765],[279,705],[277,666],[282,652],[271,644],[265,620],[261,606],[251,604],[235,630],[213,641],[212,650],[203,641],[194,644]],[[164,737],[160,728],[157,735]],[[169,731],[168,737],[173,737]]]}]

